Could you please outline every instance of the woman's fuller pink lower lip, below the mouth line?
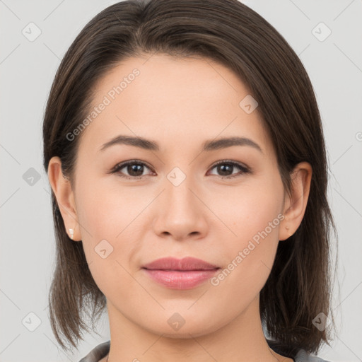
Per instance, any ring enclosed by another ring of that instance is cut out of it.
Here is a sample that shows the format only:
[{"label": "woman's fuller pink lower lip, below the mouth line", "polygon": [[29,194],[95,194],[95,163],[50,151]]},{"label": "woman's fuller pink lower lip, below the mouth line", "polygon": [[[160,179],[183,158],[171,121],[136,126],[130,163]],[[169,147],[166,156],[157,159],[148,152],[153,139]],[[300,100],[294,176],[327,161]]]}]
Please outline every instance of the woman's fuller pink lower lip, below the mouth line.
[{"label": "woman's fuller pink lower lip, below the mouth line", "polygon": [[191,289],[204,283],[213,276],[218,269],[210,270],[159,270],[144,269],[154,281],[171,289]]}]

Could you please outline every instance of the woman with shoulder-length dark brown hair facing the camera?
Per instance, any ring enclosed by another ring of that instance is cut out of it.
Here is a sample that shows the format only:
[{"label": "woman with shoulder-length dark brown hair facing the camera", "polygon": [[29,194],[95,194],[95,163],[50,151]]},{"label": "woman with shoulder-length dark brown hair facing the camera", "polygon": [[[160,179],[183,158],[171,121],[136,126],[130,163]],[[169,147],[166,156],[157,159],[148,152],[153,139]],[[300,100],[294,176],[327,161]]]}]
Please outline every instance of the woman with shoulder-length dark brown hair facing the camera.
[{"label": "woman with shoulder-length dark brown hair facing the camera", "polygon": [[110,341],[83,362],[323,361],[325,141],[264,18],[236,0],[109,6],[66,52],[43,137],[64,349],[107,307]]}]

